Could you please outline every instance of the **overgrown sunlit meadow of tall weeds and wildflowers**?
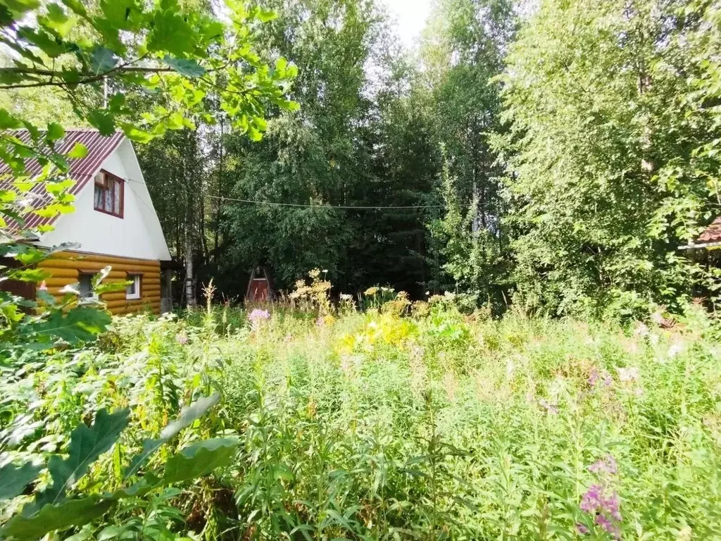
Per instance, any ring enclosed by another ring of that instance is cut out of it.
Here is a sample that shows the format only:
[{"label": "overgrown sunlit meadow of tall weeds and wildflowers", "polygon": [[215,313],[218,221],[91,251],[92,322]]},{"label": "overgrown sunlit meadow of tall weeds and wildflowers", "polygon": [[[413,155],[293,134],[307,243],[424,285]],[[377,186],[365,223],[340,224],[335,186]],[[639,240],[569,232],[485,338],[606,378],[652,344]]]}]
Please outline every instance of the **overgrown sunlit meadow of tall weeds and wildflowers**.
[{"label": "overgrown sunlit meadow of tall weeds and wildflowers", "polygon": [[[291,302],[116,317],[92,347],[4,366],[3,462],[43,463],[101,408],[130,408],[71,493],[117,490],[198,395],[221,400],[136,474],[196,440],[239,440],[212,475],[50,538],[721,537],[721,345],[700,309],[620,327],[388,291],[363,310],[331,307],[322,286]],[[4,502],[2,521],[47,484]]]}]

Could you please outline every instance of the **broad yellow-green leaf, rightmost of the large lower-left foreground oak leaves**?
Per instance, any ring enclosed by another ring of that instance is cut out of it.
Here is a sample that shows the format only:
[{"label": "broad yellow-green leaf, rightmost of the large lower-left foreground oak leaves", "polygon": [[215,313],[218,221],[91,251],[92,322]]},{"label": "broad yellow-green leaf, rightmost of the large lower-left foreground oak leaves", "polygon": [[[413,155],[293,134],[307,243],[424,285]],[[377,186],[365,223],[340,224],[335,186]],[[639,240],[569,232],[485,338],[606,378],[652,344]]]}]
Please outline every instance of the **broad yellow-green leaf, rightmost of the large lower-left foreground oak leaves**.
[{"label": "broad yellow-green leaf, rightmost of the large lower-left foreground oak leaves", "polygon": [[162,483],[182,483],[208,475],[217,467],[228,465],[238,445],[239,440],[231,438],[208,439],[189,445],[165,463]]}]

